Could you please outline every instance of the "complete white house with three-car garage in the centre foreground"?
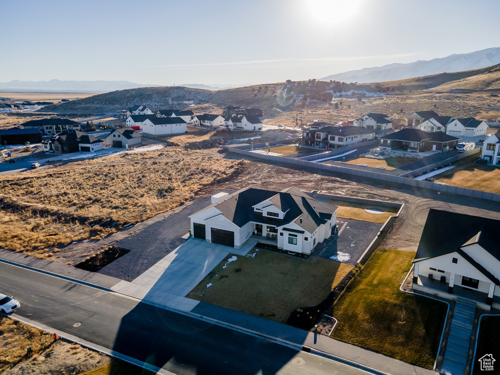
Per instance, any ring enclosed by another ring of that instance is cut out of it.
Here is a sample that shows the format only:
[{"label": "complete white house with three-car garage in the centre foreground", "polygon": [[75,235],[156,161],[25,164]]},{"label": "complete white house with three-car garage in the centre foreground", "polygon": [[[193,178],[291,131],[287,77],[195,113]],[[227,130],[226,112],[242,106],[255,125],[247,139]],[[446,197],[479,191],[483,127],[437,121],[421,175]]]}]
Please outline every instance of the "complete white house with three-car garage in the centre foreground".
[{"label": "complete white house with three-car garage in the centre foreground", "polygon": [[235,248],[262,242],[308,255],[330,237],[337,208],[296,187],[274,191],[250,186],[212,196],[212,204],[189,216],[191,235]]}]

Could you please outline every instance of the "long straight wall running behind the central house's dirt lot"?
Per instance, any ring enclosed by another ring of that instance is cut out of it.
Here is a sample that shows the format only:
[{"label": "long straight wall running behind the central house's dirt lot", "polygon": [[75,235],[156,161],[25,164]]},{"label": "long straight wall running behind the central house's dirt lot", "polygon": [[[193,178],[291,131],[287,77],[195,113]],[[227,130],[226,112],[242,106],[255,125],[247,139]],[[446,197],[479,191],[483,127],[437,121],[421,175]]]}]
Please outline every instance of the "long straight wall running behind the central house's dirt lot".
[{"label": "long straight wall running behind the central house's dirt lot", "polygon": [[[419,180],[416,180],[413,178],[406,178],[406,177],[401,177],[401,176],[396,176],[396,175],[391,175],[391,174],[377,173],[377,172],[362,170],[362,169],[352,169],[352,168],[346,167],[345,165],[341,165],[341,166],[328,165],[328,164],[316,163],[316,162],[307,161],[307,160],[284,158],[281,156],[273,156],[273,155],[263,155],[260,153],[255,153],[255,152],[251,152],[251,151],[247,151],[245,149],[239,149],[239,148],[235,148],[235,147],[229,147],[229,151],[243,154],[243,155],[247,155],[247,156],[257,157],[257,158],[261,158],[261,159],[265,159],[265,160],[271,160],[271,161],[275,161],[275,162],[299,165],[299,166],[302,166],[304,169],[305,168],[315,168],[315,169],[329,170],[331,172],[336,172],[336,173],[352,174],[352,175],[356,175],[356,176],[360,176],[360,177],[374,178],[374,179],[379,179],[379,180],[388,181],[388,182],[402,183],[405,185],[410,185],[410,186],[415,186],[415,187],[422,187],[422,188],[432,189],[432,190],[436,190],[436,191],[449,192],[452,194],[472,196],[472,197],[479,198],[479,199],[488,199],[488,200],[494,200],[494,201],[500,202],[500,194],[496,194],[496,193],[492,193],[492,192],[473,190],[473,189],[467,189],[464,187],[457,187],[457,186],[450,186],[450,185],[442,185],[440,183],[434,183],[434,182],[429,182],[429,181],[419,181]],[[465,155],[465,156],[467,156],[467,155]],[[465,157],[465,156],[463,156],[463,157]]]}]

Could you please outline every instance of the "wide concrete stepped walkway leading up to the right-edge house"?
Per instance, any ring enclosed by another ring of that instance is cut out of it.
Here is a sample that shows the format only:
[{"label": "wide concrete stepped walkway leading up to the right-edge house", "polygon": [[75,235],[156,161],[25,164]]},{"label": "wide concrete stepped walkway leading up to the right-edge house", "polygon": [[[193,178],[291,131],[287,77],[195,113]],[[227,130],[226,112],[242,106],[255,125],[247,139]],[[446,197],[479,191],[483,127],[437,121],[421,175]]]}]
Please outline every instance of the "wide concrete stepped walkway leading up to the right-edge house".
[{"label": "wide concrete stepped walkway leading up to the right-edge house", "polygon": [[475,307],[475,302],[457,297],[441,367],[442,374],[463,375],[465,372]]}]

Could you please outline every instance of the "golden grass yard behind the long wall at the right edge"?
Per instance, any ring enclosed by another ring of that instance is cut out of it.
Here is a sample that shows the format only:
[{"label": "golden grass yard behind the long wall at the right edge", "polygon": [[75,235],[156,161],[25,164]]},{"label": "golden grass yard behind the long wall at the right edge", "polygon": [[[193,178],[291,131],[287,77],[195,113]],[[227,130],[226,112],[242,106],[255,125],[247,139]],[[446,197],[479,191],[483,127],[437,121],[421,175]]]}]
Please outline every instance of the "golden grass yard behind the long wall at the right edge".
[{"label": "golden grass yard behind the long wall at the right edge", "polygon": [[440,173],[436,182],[469,189],[500,193],[500,168],[493,165],[473,163],[464,160]]}]

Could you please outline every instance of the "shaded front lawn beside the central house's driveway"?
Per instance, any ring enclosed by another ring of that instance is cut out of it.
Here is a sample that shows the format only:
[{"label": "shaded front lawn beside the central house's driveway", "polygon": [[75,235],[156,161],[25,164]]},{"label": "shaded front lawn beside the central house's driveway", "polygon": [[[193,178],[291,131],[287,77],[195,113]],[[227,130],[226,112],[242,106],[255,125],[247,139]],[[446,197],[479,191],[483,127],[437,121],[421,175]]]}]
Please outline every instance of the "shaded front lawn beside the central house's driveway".
[{"label": "shaded front lawn beside the central house's driveway", "polygon": [[296,308],[321,302],[353,268],[313,256],[307,259],[315,260],[311,263],[263,249],[237,255],[237,260],[227,263],[231,256],[220,262],[187,297],[281,323]]}]

